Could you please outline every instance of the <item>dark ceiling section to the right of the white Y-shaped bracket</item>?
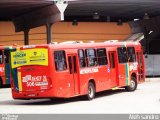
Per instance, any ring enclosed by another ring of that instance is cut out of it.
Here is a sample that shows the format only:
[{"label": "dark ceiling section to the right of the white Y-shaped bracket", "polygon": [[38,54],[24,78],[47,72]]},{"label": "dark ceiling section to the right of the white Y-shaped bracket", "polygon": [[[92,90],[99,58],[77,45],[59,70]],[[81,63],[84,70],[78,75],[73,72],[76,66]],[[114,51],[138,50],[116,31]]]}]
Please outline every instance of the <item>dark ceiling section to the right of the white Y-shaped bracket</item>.
[{"label": "dark ceiling section to the right of the white Y-shaped bracket", "polygon": [[[71,0],[65,11],[65,20],[77,21],[132,21],[160,16],[159,0]],[[98,14],[99,19],[93,19]]]}]

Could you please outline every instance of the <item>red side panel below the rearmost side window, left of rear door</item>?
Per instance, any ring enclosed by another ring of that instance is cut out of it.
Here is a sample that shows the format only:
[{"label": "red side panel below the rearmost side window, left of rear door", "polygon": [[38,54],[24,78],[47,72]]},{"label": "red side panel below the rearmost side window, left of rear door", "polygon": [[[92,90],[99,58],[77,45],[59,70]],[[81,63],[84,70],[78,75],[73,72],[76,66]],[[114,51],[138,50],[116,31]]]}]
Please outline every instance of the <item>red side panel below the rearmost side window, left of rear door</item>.
[{"label": "red side panel below the rearmost side window, left of rear door", "polygon": [[70,88],[68,87],[69,75],[68,70],[56,71],[55,61],[54,61],[54,51],[49,49],[49,70],[50,78],[52,81],[52,92],[50,97],[63,97],[67,98],[70,96]]}]

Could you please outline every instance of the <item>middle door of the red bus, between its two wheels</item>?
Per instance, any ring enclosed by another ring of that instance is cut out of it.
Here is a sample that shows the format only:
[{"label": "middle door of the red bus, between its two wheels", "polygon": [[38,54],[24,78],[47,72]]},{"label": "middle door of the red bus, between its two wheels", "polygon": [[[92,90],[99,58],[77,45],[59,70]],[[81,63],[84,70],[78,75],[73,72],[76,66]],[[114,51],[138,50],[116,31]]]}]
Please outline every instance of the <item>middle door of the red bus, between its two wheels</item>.
[{"label": "middle door of the red bus, between its two wheels", "polygon": [[109,62],[110,62],[110,80],[111,87],[116,87],[117,84],[117,71],[116,71],[116,52],[109,51]]}]

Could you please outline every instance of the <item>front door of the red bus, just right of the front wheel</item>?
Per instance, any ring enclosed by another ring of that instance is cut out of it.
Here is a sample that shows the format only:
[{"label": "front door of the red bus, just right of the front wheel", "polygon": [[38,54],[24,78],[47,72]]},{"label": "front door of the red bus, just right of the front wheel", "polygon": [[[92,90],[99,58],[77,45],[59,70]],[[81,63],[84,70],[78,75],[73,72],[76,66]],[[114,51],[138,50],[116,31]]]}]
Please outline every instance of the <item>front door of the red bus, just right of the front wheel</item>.
[{"label": "front door of the red bus, just right of the front wheel", "polygon": [[138,80],[144,81],[144,65],[143,65],[143,54],[142,52],[136,52],[138,62]]}]

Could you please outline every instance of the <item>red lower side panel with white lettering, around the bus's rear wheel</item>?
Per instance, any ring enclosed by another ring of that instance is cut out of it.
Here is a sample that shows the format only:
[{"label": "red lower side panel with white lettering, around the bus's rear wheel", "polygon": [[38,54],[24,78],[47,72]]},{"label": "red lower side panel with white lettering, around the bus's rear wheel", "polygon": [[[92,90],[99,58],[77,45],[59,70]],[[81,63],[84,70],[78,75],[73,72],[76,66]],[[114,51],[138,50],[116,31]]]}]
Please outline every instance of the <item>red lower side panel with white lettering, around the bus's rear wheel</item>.
[{"label": "red lower side panel with white lettering, around the bus's rear wheel", "polygon": [[[90,72],[90,73],[87,73]],[[92,73],[91,73],[92,72]],[[96,92],[110,89],[108,66],[83,68],[80,70],[80,94],[87,94],[88,83],[94,80]]]}]

